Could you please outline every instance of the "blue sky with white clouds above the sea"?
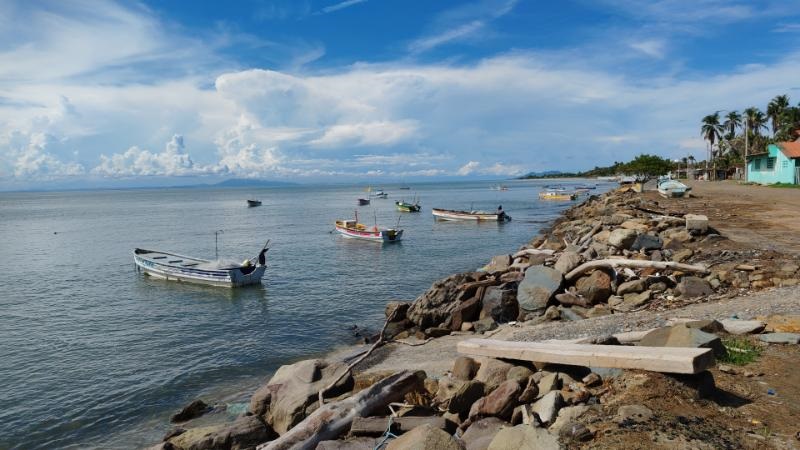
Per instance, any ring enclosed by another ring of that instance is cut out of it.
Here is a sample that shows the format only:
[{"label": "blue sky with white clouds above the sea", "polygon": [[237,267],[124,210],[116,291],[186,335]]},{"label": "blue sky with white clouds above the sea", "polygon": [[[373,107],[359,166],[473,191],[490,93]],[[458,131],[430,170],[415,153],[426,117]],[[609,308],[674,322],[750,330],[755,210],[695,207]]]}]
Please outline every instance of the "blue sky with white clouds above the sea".
[{"label": "blue sky with white clouds above the sea", "polygon": [[800,0],[0,0],[0,189],[508,178],[800,100]]}]

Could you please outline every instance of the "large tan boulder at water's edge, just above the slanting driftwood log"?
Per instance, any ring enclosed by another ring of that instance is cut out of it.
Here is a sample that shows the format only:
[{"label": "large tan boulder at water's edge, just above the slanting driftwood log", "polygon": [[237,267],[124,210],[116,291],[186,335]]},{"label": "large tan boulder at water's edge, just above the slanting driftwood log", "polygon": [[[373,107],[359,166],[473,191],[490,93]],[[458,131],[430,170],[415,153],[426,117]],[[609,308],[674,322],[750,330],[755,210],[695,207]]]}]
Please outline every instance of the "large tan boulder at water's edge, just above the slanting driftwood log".
[{"label": "large tan boulder at water's edge, just above the slanting driftwood log", "polygon": [[[343,362],[328,362],[309,359],[281,366],[267,383],[270,391],[270,406],[267,422],[280,434],[298,424],[305,417],[306,408],[317,401],[317,394],[347,371]],[[345,375],[326,395],[334,397],[349,391],[353,377]],[[259,389],[259,392],[262,390]],[[257,392],[258,393],[258,392]],[[251,406],[259,403],[250,399]]]}]

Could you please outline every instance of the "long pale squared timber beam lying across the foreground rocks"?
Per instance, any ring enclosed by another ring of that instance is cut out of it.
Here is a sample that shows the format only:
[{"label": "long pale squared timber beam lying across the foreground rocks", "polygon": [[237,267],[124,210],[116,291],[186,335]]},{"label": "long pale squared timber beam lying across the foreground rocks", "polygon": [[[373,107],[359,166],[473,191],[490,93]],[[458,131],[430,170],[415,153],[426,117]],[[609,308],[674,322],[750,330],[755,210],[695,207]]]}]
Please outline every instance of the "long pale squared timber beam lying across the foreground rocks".
[{"label": "long pale squared timber beam lying across the foreground rocks", "polygon": [[458,352],[490,358],[688,374],[702,372],[714,363],[714,353],[710,348],[690,347],[631,347],[467,339],[458,343]]}]

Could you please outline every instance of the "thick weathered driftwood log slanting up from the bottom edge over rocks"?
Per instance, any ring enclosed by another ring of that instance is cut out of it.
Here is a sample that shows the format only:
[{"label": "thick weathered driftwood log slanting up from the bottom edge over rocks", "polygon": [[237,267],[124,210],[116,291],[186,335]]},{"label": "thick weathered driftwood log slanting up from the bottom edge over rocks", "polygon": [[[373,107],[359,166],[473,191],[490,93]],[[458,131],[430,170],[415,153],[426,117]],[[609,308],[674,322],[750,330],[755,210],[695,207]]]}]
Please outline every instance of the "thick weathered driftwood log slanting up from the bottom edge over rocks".
[{"label": "thick weathered driftwood log slanting up from the bottom edge over rocks", "polygon": [[421,384],[415,372],[402,371],[373,384],[344,400],[320,406],[278,439],[261,444],[257,450],[313,450],[321,441],[336,439],[347,431],[356,417],[384,413],[390,403]]}]

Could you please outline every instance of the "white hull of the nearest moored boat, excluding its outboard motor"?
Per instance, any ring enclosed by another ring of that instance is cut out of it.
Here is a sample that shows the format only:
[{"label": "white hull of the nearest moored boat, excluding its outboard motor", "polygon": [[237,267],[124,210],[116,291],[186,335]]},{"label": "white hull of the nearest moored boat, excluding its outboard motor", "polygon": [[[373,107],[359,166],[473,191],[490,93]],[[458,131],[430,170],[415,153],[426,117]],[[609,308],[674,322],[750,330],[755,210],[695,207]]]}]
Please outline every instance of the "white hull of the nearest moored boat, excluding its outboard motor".
[{"label": "white hull of the nearest moored boat, excluding its outboard motor", "polygon": [[[138,249],[137,249],[138,250]],[[163,254],[161,252],[153,252]],[[219,287],[241,287],[261,283],[261,278],[267,270],[267,266],[237,267],[220,270],[195,269],[191,267],[180,267],[168,263],[155,261],[134,251],[133,260],[142,272],[153,278],[167,281],[178,281],[184,283],[203,284],[206,286]],[[208,262],[196,258],[189,258],[181,255],[167,254],[169,256],[188,261]]]}]

